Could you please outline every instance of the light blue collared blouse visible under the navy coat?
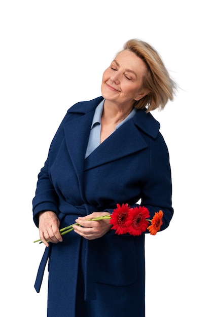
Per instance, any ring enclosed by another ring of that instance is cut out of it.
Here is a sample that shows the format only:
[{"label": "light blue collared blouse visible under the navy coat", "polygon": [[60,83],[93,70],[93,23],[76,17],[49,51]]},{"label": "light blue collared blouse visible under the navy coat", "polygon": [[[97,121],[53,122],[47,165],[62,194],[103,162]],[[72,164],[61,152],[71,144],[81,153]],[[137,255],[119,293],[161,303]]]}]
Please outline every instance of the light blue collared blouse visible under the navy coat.
[{"label": "light blue collared blouse visible under the navy coat", "polygon": [[[91,125],[91,131],[90,131],[90,136],[89,136],[89,140],[88,140],[88,146],[87,146],[87,150],[86,150],[86,154],[85,154],[85,158],[90,155],[91,152],[93,152],[93,150],[95,150],[95,148],[97,146],[99,146],[100,144],[100,132],[101,132],[101,114],[103,111],[103,105],[104,105],[104,100],[103,99],[98,106],[96,107],[94,116],[93,116],[93,121],[92,121],[92,125]],[[132,111],[128,114],[128,116],[116,126],[115,131],[121,127],[121,125],[123,125],[126,121],[128,121],[130,118],[132,118],[135,113],[136,113],[137,109],[133,108]]]}]

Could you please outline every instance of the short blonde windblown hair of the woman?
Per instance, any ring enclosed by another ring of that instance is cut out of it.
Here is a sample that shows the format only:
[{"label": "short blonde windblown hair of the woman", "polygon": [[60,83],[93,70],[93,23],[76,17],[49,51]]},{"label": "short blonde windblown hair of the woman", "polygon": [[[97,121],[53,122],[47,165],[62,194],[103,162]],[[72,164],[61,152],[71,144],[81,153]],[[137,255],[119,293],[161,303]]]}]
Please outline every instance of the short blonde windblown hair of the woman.
[{"label": "short blonde windblown hair of the woman", "polygon": [[139,39],[129,39],[123,49],[135,53],[147,65],[142,88],[147,90],[148,94],[136,101],[134,107],[137,109],[147,107],[147,112],[157,108],[163,109],[168,100],[173,100],[176,84],[170,78],[160,55],[151,45]]}]

